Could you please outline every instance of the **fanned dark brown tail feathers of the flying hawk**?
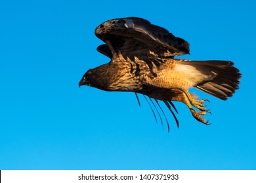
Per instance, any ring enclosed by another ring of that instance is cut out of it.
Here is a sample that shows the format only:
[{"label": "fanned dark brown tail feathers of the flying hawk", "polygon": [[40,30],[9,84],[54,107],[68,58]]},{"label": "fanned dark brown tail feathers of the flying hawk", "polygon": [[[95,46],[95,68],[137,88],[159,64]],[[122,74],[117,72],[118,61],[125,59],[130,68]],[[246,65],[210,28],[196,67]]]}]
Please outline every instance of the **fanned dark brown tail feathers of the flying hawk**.
[{"label": "fanned dark brown tail feathers of the flying hawk", "polygon": [[[211,80],[204,80],[195,87],[219,99],[226,100],[239,88],[241,73],[232,61],[192,61],[192,65],[204,70],[202,73],[217,73]],[[205,71],[205,67],[207,67]]]}]

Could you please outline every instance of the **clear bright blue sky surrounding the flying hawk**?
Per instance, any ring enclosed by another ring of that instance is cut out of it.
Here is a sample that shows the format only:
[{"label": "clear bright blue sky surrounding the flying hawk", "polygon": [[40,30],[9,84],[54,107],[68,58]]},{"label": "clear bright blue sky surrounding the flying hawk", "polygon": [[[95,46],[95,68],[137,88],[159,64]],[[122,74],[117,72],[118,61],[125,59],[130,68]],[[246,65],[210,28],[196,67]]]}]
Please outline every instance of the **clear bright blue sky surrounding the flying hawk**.
[{"label": "clear bright blue sky surrounding the flying hawk", "polygon": [[[1,1],[0,169],[256,169],[255,1]],[[211,125],[175,103],[180,128],[156,123],[133,93],[78,87],[95,27],[138,16],[190,43],[182,58],[234,61],[240,90],[211,103]]]}]

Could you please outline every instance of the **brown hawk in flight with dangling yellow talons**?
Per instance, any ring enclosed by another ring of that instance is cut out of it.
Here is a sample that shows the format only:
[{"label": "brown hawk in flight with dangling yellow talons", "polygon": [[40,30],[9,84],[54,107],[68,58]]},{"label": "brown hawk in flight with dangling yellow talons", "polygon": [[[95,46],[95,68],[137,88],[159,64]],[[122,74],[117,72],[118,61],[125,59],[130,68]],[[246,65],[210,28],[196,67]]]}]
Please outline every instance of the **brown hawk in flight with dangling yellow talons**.
[{"label": "brown hawk in flight with dangling yellow talons", "polygon": [[208,124],[202,117],[209,112],[203,105],[207,99],[198,99],[188,89],[198,88],[222,100],[238,89],[241,74],[232,61],[175,59],[189,54],[188,42],[142,18],[108,20],[96,27],[95,35],[106,43],[98,46],[98,52],[111,61],[89,69],[79,86],[141,93],[158,105],[163,101],[169,110],[176,110],[171,101],[180,101],[203,124]]}]

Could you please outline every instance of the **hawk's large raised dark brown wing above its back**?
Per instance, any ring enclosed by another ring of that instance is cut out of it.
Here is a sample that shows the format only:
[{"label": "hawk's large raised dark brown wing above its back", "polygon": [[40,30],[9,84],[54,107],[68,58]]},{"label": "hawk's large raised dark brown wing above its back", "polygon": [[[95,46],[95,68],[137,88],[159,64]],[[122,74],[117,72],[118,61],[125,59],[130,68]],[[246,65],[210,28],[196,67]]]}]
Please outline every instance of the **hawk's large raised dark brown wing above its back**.
[{"label": "hawk's large raised dark brown wing above its back", "polygon": [[[142,18],[118,18],[108,20],[96,27],[95,35],[106,42],[112,54],[172,58],[189,54],[189,44],[169,33],[167,29],[152,25]],[[110,56],[109,50],[99,46],[99,52]]]}]

